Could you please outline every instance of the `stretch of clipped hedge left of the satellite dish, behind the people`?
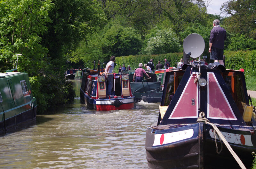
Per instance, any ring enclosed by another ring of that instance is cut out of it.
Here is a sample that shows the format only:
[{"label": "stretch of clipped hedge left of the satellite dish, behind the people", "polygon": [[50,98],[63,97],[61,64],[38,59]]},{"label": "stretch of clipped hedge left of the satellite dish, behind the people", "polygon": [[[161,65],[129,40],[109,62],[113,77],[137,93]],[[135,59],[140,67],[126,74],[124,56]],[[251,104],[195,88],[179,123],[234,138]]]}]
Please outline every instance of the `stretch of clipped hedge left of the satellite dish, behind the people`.
[{"label": "stretch of clipped hedge left of the satellite dish, behind the people", "polygon": [[122,56],[122,57],[117,57],[116,58],[116,67],[114,68],[114,70],[116,70],[116,72],[118,71],[118,67],[119,65],[123,65],[125,64],[125,67],[127,67],[128,65],[130,65],[130,67],[132,69],[138,68],[139,67],[139,63],[142,63],[143,65],[145,63],[148,63],[148,61],[150,59],[153,59],[153,63],[156,67],[156,64],[158,63],[158,60],[161,61],[162,64],[164,64],[164,59],[167,59],[170,64],[171,67],[176,67],[175,62],[177,62],[176,60],[180,60],[180,58],[183,57],[183,53],[167,53],[167,54],[158,54],[158,55],[136,55],[136,56]]}]

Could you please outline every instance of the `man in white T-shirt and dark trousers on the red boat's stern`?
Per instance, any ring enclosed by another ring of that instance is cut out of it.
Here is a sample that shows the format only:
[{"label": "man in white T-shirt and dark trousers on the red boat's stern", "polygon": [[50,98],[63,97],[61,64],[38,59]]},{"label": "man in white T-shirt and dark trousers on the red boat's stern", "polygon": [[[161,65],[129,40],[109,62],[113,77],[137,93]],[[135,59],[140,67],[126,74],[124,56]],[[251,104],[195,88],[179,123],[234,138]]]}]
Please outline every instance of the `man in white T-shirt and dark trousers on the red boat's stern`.
[{"label": "man in white T-shirt and dark trousers on the red boat's stern", "polygon": [[105,74],[107,77],[107,96],[114,95],[114,92],[112,90],[113,88],[113,71],[114,71],[114,62],[116,60],[115,56],[110,57],[110,61],[107,63],[105,68]]}]

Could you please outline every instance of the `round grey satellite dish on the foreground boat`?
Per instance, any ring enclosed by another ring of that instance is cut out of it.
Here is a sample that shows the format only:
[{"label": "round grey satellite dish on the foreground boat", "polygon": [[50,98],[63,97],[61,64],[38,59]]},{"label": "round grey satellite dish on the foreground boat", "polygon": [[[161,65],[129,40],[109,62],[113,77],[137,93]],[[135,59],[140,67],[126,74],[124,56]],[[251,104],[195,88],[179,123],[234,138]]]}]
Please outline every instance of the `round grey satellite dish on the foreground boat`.
[{"label": "round grey satellite dish on the foreground boat", "polygon": [[187,54],[191,52],[191,58],[198,58],[204,52],[204,39],[197,33],[192,33],[183,42],[183,50]]}]

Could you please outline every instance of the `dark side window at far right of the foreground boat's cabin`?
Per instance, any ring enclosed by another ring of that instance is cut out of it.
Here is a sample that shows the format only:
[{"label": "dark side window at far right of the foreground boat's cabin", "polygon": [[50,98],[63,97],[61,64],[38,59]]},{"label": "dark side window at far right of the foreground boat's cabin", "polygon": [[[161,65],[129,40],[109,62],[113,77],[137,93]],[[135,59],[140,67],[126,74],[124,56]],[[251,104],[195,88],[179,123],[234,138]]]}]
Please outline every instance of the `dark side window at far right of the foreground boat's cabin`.
[{"label": "dark side window at far right of the foreground boat's cabin", "polygon": [[241,74],[236,74],[235,76],[235,95],[236,95],[236,105],[241,114],[244,113],[244,107],[246,105],[245,95],[244,95],[244,86],[241,80]]}]

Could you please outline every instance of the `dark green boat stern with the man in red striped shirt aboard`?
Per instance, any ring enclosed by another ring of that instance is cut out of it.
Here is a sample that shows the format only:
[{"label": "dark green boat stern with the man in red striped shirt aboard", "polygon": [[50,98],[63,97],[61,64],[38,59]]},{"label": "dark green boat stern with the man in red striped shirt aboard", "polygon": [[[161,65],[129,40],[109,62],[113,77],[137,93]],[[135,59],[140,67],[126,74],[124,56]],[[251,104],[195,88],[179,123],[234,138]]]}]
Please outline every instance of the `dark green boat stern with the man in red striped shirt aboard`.
[{"label": "dark green boat stern with the man in red striped shirt aboard", "polygon": [[140,102],[141,100],[148,103],[161,102],[163,93],[161,81],[157,81],[154,72],[146,72],[151,79],[144,74],[142,82],[132,82],[134,71],[133,73],[130,72],[129,80],[131,83],[132,95],[135,96],[136,102]]}]

